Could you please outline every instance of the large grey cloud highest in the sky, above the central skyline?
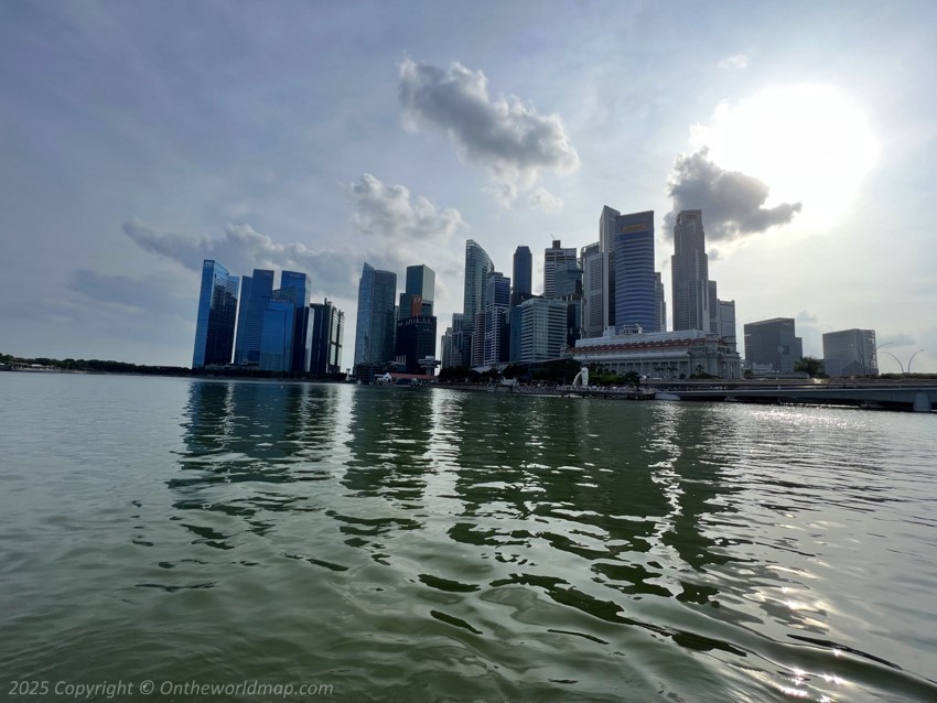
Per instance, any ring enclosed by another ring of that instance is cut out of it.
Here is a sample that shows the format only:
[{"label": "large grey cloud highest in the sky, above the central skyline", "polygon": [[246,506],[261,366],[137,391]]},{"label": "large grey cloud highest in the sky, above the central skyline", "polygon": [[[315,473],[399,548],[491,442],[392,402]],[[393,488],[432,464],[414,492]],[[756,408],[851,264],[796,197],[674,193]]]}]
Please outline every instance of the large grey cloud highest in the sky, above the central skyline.
[{"label": "large grey cloud highest in the sky, above the central skyline", "polygon": [[483,166],[496,182],[527,188],[541,171],[579,167],[559,115],[540,115],[516,96],[492,100],[481,71],[408,58],[400,64],[399,96],[409,129],[429,125],[444,131],[464,161]]}]

